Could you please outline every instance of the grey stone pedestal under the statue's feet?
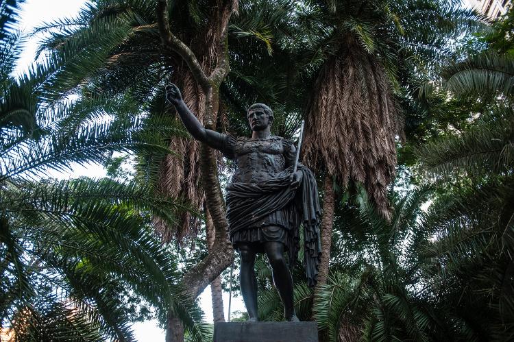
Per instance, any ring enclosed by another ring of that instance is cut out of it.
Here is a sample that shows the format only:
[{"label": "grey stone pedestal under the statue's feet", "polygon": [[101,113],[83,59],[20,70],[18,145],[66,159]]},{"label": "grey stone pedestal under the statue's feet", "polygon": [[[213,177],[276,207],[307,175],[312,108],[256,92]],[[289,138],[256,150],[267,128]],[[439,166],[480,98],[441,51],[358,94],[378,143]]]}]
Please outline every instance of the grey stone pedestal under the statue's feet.
[{"label": "grey stone pedestal under the statue's feet", "polygon": [[213,342],[318,342],[316,322],[215,323]]}]

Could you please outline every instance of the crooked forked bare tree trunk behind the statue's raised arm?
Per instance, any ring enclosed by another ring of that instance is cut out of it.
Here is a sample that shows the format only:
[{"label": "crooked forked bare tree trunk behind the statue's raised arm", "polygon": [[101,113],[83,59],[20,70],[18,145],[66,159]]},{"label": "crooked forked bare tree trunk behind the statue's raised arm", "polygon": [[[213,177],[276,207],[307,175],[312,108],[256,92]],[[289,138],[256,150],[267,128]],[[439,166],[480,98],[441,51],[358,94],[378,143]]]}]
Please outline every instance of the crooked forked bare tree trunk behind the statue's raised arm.
[{"label": "crooked forked bare tree trunk behind the statue's raised arm", "polygon": [[[195,81],[200,85],[205,95],[204,125],[214,129],[213,117],[217,114],[219,107],[219,85],[225,79],[230,70],[228,60],[228,21],[232,12],[237,8],[237,0],[225,0],[217,12],[213,27],[217,31],[216,40],[216,66],[214,71],[207,77],[201,68],[195,54],[180,39],[173,36],[167,18],[167,0],[158,0],[157,16],[159,32],[162,42],[166,47],[178,53],[188,64]],[[201,260],[195,267],[189,269],[182,279],[186,284],[188,293],[196,298],[212,280],[214,280],[225,268],[227,268],[234,258],[234,249],[228,239],[228,222],[225,217],[225,205],[223,195],[217,178],[216,158],[210,148],[201,144],[200,147],[200,168],[201,180],[206,193],[206,204],[215,226],[215,241],[212,249],[204,260]]]}]

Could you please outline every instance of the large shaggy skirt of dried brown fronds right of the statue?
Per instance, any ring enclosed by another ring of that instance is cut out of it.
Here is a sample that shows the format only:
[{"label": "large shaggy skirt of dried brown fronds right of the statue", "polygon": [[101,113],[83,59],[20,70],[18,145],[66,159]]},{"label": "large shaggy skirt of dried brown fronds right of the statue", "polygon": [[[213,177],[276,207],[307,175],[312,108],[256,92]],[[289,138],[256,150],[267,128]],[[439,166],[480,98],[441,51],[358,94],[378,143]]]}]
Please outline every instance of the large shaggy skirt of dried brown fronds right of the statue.
[{"label": "large shaggy skirt of dried brown fronds right of the statue", "polygon": [[307,109],[304,162],[343,186],[361,182],[389,218],[396,165],[396,108],[383,67],[350,41],[322,67]]}]

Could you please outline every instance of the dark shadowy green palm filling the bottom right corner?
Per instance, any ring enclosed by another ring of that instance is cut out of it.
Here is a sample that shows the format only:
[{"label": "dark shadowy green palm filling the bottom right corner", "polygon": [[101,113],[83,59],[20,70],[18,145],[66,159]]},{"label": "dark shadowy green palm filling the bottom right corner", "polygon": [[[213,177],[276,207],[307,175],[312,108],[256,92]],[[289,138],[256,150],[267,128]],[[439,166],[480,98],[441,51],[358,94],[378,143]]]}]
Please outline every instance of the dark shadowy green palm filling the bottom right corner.
[{"label": "dark shadowy green palm filling the bottom right corner", "polygon": [[439,339],[509,341],[513,180],[464,183],[439,195],[424,219],[433,242],[424,251],[430,262],[422,286],[443,323]]}]

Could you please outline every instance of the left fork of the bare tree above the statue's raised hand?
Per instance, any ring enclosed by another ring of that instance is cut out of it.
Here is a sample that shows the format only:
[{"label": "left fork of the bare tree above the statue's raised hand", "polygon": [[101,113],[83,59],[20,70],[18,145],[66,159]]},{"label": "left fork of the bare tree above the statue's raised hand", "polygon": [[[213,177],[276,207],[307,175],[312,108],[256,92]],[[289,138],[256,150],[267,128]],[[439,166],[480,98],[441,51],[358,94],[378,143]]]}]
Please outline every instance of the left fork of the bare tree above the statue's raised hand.
[{"label": "left fork of the bare tree above the statue's raised hand", "polygon": [[201,65],[195,57],[195,53],[189,49],[187,45],[182,42],[179,38],[175,37],[171,33],[171,29],[169,27],[168,21],[168,1],[167,0],[158,0],[157,1],[157,22],[159,25],[160,38],[162,39],[162,44],[166,47],[169,47],[171,50],[175,51],[184,59],[184,61],[189,66],[191,73],[193,73],[193,77],[195,77],[196,82],[201,86],[204,93],[207,93],[208,89],[211,87],[208,77],[204,73],[204,69],[201,69]]}]

